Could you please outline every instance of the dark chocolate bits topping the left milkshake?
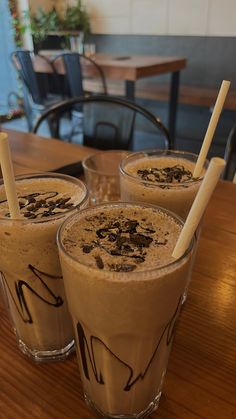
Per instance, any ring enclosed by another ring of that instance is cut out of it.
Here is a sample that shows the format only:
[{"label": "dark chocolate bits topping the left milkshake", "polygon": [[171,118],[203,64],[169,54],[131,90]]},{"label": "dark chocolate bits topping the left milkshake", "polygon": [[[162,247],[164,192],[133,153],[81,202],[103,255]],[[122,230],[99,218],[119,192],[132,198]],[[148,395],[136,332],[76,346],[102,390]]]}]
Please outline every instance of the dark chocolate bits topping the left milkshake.
[{"label": "dark chocolate bits topping the left milkshake", "polygon": [[[69,202],[71,200],[71,197],[58,198],[56,200],[53,199],[58,195],[58,192],[49,191],[34,192],[28,195],[19,196],[19,206],[22,215],[28,219],[34,219],[39,217],[44,218],[49,217],[51,215],[63,213],[65,210],[68,210],[75,206],[72,202]],[[6,202],[7,200],[0,201],[0,205]],[[5,216],[10,217],[10,213],[6,213]]]}]

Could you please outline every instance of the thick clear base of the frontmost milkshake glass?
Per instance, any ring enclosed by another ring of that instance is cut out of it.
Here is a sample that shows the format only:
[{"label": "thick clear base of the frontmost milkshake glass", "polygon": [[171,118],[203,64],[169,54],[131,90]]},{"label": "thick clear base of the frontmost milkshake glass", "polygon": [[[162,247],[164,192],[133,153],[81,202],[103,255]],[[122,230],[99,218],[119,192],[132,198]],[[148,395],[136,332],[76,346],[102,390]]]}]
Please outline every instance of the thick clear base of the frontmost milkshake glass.
[{"label": "thick clear base of the frontmost milkshake glass", "polygon": [[103,412],[100,410],[97,405],[89,398],[89,396],[84,393],[85,402],[87,405],[92,408],[97,414],[102,416],[103,418],[109,418],[109,419],[143,419],[147,416],[149,416],[152,412],[154,412],[159,405],[159,401],[161,398],[161,391],[160,393],[155,397],[155,399],[149,403],[149,405],[146,407],[146,409],[142,410],[140,413],[134,413],[134,414],[110,414]]}]

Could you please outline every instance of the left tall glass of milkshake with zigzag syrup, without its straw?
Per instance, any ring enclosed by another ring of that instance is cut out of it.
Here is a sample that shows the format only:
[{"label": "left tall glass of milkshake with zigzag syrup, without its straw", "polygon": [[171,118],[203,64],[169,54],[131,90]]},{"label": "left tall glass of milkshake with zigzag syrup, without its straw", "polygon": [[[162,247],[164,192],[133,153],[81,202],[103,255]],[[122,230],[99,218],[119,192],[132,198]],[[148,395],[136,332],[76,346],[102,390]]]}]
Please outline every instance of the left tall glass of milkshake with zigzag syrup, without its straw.
[{"label": "left tall glass of milkshake with zigzag syrup, without its straw", "polygon": [[85,185],[57,174],[17,177],[21,219],[11,220],[0,184],[0,272],[18,346],[36,361],[62,359],[73,349],[56,232],[84,207]]}]

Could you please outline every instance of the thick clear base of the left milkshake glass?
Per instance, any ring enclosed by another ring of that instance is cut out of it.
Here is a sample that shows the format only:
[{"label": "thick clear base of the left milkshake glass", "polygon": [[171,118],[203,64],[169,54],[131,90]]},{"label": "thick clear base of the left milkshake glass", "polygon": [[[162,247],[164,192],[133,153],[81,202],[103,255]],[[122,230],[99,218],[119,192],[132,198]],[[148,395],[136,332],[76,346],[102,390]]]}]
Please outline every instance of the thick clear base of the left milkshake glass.
[{"label": "thick clear base of the left milkshake glass", "polygon": [[63,361],[75,350],[74,339],[64,348],[53,351],[39,351],[28,348],[21,339],[17,340],[21,352],[34,362]]}]

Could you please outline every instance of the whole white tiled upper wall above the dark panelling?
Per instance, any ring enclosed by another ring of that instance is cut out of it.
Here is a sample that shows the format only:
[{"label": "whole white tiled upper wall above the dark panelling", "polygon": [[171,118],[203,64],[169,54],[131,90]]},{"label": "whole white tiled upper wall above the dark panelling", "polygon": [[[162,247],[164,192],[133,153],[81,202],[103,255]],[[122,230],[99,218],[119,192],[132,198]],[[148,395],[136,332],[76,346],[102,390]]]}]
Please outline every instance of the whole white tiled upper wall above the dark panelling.
[{"label": "whole white tiled upper wall above the dark panelling", "polygon": [[96,34],[236,36],[236,0],[84,0]]}]

